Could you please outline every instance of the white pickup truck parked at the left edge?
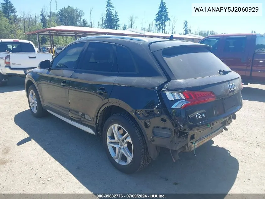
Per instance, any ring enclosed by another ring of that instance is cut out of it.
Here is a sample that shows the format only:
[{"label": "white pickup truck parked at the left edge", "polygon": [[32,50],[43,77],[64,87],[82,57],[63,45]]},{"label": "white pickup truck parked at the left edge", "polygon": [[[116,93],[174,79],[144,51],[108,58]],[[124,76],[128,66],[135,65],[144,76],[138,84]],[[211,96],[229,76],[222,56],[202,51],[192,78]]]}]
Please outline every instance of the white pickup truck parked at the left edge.
[{"label": "white pickup truck parked at the left edge", "polygon": [[51,53],[38,53],[31,41],[0,39],[0,86],[7,84],[8,76],[25,77],[41,61],[51,61],[52,58]]}]

